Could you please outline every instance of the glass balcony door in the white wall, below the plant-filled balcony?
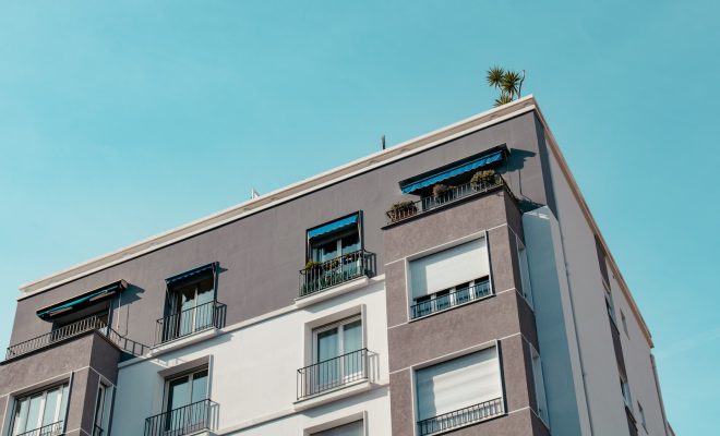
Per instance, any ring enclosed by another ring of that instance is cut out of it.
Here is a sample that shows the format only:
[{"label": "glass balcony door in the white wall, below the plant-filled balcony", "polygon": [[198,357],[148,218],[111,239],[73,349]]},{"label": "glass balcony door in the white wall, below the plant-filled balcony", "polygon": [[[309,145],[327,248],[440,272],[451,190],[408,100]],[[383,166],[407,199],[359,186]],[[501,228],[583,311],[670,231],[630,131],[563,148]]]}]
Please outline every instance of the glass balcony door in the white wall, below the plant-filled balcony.
[{"label": "glass balcony door in the white wall, below the plant-filled balcony", "polygon": [[331,389],[361,378],[364,367],[360,316],[317,328],[314,337],[314,391]]}]

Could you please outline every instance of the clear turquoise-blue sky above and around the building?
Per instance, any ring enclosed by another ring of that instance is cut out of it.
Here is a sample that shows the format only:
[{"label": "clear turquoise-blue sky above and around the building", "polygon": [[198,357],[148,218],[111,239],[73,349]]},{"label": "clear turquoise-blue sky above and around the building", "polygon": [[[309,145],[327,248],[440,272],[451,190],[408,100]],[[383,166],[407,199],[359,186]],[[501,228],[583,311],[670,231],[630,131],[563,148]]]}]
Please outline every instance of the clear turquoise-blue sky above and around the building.
[{"label": "clear turquoise-blue sky above and around the building", "polygon": [[[720,425],[720,3],[0,1],[0,346],[17,287],[491,107],[526,69],[653,334]],[[715,140],[712,140],[715,137]]]}]

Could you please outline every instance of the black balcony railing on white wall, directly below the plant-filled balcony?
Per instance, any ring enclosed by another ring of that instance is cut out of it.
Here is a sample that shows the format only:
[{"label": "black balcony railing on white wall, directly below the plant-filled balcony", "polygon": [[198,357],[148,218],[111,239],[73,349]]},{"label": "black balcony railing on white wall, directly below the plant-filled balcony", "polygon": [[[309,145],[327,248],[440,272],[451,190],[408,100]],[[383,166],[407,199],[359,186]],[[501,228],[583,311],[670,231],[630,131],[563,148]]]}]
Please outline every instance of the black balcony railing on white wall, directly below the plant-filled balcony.
[{"label": "black balcony railing on white wall, directly below the plant-filled balcony", "polygon": [[298,399],[312,397],[368,378],[368,349],[298,370]]}]

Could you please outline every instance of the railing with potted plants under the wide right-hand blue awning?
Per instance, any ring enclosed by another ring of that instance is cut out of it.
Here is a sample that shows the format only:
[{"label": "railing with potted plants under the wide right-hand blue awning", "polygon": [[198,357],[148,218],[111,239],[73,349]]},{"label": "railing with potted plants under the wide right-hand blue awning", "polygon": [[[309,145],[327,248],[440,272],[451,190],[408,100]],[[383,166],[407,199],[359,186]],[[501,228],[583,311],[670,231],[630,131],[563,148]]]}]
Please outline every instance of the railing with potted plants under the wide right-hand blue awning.
[{"label": "railing with potted plants under the wide right-hand blue awning", "polygon": [[447,204],[467,198],[473,195],[482,195],[505,185],[505,181],[500,174],[480,183],[463,183],[457,186],[451,186],[440,195],[424,196],[416,202],[406,202],[401,206],[395,207],[386,213],[387,223],[404,221],[416,215],[421,215]]}]

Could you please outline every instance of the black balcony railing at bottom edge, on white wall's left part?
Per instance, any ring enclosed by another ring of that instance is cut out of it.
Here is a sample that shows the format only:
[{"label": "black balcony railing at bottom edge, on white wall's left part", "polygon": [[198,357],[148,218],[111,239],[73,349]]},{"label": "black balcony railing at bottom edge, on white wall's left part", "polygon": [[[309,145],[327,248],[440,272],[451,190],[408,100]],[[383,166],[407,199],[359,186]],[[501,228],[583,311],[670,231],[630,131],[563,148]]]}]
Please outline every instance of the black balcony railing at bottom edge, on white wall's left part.
[{"label": "black balcony railing at bottom edge, on white wall's left part", "polygon": [[145,420],[145,436],[182,436],[212,431],[217,403],[202,400]]}]

